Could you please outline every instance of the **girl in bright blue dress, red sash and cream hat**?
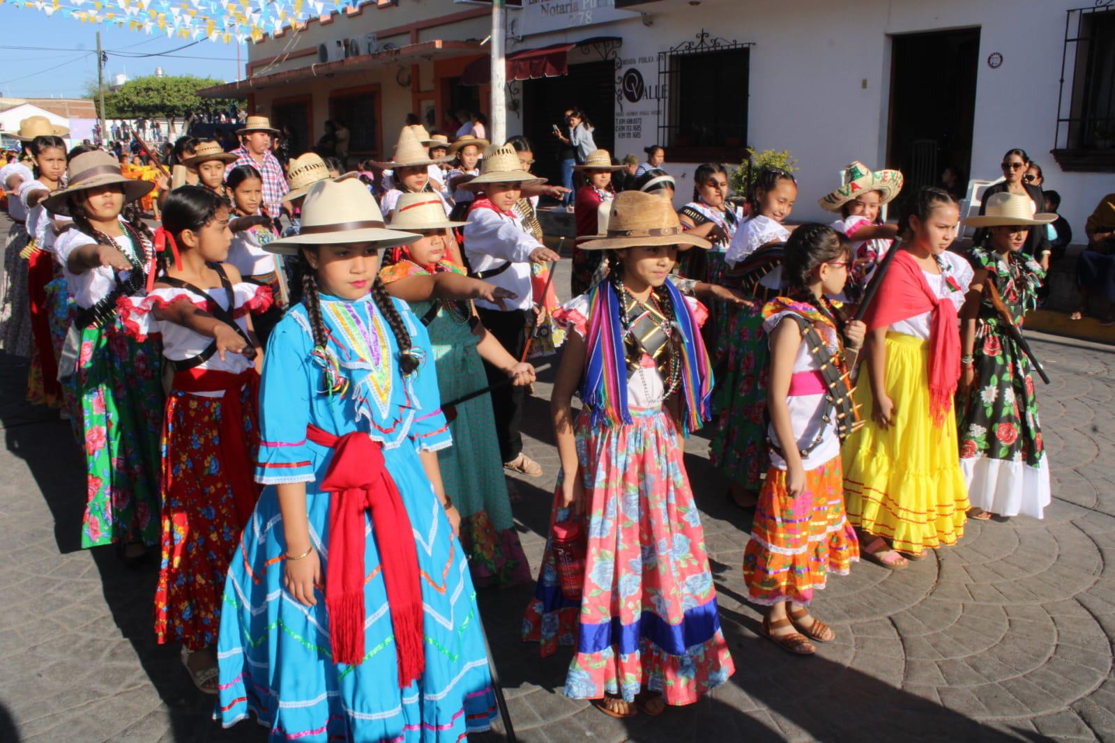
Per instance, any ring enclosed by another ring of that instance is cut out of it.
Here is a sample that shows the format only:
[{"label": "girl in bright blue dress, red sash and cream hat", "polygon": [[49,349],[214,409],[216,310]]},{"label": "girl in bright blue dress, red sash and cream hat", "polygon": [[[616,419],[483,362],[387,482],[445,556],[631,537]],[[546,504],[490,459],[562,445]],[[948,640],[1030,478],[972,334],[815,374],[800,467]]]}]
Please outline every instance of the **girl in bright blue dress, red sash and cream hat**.
[{"label": "girl in bright blue dress, red sash and cream hat", "polygon": [[377,278],[384,229],[359,180],[317,184],[298,236],[303,300],[275,325],[260,392],[266,485],[225,584],[225,726],[270,740],[463,740],[496,714],[438,449],[450,446],[425,327]]}]

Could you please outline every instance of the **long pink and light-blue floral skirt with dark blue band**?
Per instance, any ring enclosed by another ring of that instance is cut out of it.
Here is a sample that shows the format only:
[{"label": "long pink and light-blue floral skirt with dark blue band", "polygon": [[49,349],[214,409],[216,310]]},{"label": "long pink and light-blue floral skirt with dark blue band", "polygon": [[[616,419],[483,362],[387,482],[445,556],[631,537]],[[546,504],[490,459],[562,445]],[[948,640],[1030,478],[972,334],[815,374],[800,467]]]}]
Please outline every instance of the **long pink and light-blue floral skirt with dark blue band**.
[{"label": "long pink and light-blue floral skirt with dark blue band", "polygon": [[[735,672],[720,630],[716,588],[705,554],[672,420],[659,410],[631,410],[632,423],[590,430],[576,422],[585,491],[588,557],[583,598],[564,598],[552,542],[546,544],[523,639],[575,646],[565,680],[573,698],[661,692],[667,704],[690,704]],[[566,520],[562,479],[552,521]]]}]

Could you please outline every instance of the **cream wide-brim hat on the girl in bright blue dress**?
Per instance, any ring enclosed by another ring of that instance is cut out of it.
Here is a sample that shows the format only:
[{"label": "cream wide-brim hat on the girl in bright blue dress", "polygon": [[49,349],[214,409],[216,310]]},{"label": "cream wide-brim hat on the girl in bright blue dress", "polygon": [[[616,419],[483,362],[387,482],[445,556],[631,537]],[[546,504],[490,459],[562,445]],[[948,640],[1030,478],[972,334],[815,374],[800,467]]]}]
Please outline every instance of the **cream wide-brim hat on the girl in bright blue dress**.
[{"label": "cream wide-brim hat on the girl in bright blue dress", "polygon": [[302,203],[301,232],[263,246],[269,253],[294,255],[303,245],[375,243],[395,247],[419,239],[420,235],[388,229],[376,197],[355,178],[319,180]]}]

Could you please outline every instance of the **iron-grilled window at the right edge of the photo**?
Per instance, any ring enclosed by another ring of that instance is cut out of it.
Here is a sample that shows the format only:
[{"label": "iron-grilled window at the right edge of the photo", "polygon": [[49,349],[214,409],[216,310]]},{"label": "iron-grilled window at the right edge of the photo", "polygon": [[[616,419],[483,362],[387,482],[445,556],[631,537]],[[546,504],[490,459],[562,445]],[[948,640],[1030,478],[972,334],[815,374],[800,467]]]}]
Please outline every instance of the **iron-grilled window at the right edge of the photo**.
[{"label": "iron-grilled window at the right edge of the photo", "polygon": [[[1057,140],[1064,169],[1115,169],[1115,0],[1068,11]],[[1084,154],[1087,154],[1086,156]]]}]

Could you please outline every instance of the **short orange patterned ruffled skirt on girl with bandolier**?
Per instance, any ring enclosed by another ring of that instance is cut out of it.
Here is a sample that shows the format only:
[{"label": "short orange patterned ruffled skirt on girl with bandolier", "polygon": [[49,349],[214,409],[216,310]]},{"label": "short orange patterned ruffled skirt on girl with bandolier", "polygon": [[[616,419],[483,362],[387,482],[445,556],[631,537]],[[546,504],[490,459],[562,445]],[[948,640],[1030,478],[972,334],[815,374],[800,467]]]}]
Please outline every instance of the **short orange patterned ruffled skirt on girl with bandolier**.
[{"label": "short orange patterned ruffled skirt on girl with bandolier", "polygon": [[855,530],[844,516],[840,457],[805,472],[797,498],[786,490],[786,470],[767,472],[744,553],[744,583],[755,604],[808,604],[830,573],[847,575],[860,559]]}]

